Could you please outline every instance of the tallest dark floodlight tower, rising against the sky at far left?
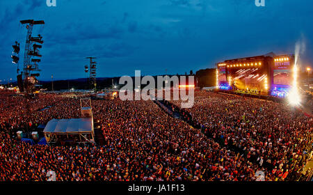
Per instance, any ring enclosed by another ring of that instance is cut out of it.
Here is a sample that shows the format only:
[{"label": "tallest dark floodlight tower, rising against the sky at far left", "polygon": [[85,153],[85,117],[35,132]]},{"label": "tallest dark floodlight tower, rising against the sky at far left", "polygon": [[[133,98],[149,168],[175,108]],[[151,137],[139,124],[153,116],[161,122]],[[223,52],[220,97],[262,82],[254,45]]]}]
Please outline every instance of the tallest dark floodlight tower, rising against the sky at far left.
[{"label": "tallest dark floodlight tower, rising against the sky at far left", "polygon": [[[39,71],[38,63],[40,59],[34,59],[33,57],[40,58],[39,49],[42,47],[42,36],[32,36],[33,26],[37,24],[45,24],[43,20],[21,20],[21,24],[26,24],[27,34],[24,49],[24,65],[23,65],[23,83],[26,93],[33,93],[34,84],[38,83]],[[41,44],[41,45],[39,45]]]}]

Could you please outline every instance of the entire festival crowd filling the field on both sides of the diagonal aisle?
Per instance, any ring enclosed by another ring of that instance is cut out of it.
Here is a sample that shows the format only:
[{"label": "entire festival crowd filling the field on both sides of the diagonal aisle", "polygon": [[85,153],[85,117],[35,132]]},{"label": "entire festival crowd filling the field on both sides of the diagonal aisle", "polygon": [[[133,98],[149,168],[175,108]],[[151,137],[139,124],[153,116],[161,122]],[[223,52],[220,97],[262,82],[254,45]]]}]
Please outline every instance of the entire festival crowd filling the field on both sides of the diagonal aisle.
[{"label": "entire festival crowd filling the field on both sides of the diagonal aisle", "polygon": [[45,181],[49,171],[58,181],[252,181],[257,171],[292,180],[312,151],[312,118],[273,102],[196,92],[186,111],[204,131],[152,101],[93,100],[92,107],[103,146],[30,145],[17,130],[79,118],[79,99],[0,91],[0,180]]}]

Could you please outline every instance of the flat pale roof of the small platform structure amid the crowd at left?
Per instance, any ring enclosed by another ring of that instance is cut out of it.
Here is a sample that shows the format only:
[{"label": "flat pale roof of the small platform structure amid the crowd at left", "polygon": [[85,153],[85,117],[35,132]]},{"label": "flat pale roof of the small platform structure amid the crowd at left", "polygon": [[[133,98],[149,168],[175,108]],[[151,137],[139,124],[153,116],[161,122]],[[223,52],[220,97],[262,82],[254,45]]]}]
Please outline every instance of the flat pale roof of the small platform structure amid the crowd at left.
[{"label": "flat pale roof of the small platform structure amid the crowd at left", "polygon": [[45,133],[51,134],[91,133],[92,131],[91,118],[52,119],[44,130]]}]

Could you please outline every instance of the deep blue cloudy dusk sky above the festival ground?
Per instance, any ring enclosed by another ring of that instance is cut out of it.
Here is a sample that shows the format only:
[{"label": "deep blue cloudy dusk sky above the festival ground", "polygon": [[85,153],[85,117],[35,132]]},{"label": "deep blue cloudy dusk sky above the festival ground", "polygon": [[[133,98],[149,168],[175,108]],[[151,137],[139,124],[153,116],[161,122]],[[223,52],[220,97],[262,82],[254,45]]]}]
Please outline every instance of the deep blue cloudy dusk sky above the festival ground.
[{"label": "deep blue cloudy dusk sky above the festival ground", "polygon": [[265,0],[46,0],[0,1],[0,79],[16,80],[12,45],[26,28],[19,20],[45,20],[33,35],[45,41],[39,80],[86,77],[86,56],[97,57],[97,77],[184,74],[218,61],[274,52],[312,66],[313,1]]}]

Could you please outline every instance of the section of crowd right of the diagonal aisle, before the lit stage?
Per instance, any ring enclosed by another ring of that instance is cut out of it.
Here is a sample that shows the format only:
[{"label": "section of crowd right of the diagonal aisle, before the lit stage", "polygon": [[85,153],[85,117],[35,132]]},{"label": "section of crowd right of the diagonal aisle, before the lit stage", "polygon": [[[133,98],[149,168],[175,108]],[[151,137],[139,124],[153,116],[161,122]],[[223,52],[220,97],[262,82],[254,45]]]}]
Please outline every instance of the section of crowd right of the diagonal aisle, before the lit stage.
[{"label": "section of crowd right of the diagonal aisle, before the lit stage", "polygon": [[289,104],[196,91],[194,106],[179,110],[221,146],[264,169],[269,180],[296,180],[312,157],[312,117]]}]

